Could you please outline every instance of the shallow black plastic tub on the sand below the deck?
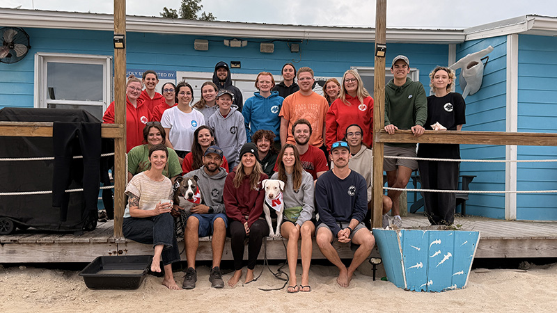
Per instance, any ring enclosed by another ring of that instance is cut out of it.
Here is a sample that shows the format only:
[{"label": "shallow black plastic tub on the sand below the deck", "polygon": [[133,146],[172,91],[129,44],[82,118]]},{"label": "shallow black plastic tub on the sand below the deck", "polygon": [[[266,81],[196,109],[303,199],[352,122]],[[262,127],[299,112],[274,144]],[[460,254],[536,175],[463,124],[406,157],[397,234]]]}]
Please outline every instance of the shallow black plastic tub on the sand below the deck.
[{"label": "shallow black plastic tub on the sand below the deck", "polygon": [[152,255],[97,257],[79,275],[90,289],[138,289],[151,261]]}]

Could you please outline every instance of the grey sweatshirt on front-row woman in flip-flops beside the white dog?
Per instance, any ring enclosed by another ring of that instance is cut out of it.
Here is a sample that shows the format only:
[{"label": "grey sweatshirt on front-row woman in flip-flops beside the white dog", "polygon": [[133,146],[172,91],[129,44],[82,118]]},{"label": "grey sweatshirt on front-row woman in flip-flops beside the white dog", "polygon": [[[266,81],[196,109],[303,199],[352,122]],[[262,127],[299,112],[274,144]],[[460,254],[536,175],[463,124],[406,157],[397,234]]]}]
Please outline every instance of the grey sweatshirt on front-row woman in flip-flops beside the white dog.
[{"label": "grey sweatshirt on front-row woman in flip-flops beside the white dog", "polygon": [[[298,192],[294,191],[294,184],[292,183],[292,175],[286,174],[287,182],[284,185],[283,191],[283,202],[284,207],[301,207],[300,216],[296,223],[298,225],[304,224],[306,220],[311,220],[315,211],[313,207],[313,191],[315,187],[313,186],[313,177],[310,173],[305,170],[301,172],[301,186]],[[271,179],[278,179],[278,173],[274,173]]]}]

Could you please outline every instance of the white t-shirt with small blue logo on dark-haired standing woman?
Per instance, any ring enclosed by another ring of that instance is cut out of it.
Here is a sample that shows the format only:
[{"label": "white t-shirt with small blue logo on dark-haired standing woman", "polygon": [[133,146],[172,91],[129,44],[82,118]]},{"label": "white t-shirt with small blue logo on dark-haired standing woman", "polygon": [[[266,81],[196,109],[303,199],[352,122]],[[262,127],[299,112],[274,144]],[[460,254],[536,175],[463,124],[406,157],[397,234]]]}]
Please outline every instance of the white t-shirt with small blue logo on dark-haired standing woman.
[{"label": "white t-shirt with small blue logo on dark-haired standing woman", "polygon": [[205,125],[203,114],[196,109],[190,113],[184,113],[174,106],[162,113],[162,127],[169,128],[168,139],[174,150],[191,151],[194,143],[194,131],[201,125]]}]

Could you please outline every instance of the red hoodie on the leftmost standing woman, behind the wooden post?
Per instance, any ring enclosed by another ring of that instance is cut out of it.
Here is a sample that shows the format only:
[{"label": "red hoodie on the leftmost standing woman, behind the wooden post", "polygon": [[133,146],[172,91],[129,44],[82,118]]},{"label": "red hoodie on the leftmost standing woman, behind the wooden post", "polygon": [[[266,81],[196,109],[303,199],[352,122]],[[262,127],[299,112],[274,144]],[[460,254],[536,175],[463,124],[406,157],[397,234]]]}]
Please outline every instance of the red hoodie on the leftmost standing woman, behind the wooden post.
[{"label": "red hoodie on the leftmost standing woman, behind the wooden post", "polygon": [[[150,120],[151,112],[141,99],[137,99],[135,107],[126,97],[126,152],[130,152],[136,145],[143,144],[143,128]],[[114,124],[114,102],[104,112],[102,122]]]}]

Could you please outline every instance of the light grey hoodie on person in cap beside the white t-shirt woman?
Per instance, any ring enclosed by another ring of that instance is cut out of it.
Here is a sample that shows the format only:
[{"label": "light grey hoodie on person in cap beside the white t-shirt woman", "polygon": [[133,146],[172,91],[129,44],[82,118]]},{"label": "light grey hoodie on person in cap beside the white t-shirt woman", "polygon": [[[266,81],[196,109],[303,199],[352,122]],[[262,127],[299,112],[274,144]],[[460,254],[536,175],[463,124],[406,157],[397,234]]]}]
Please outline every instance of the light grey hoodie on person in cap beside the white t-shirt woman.
[{"label": "light grey hoodie on person in cap beside the white t-shirt woman", "polygon": [[230,108],[230,112],[224,118],[221,111],[217,110],[207,120],[207,126],[214,131],[217,145],[224,152],[230,170],[233,170],[240,161],[240,149],[246,143],[244,115],[235,108]]}]

